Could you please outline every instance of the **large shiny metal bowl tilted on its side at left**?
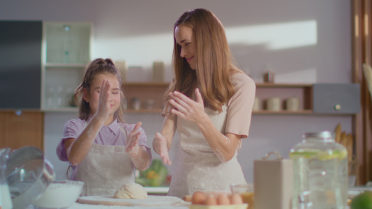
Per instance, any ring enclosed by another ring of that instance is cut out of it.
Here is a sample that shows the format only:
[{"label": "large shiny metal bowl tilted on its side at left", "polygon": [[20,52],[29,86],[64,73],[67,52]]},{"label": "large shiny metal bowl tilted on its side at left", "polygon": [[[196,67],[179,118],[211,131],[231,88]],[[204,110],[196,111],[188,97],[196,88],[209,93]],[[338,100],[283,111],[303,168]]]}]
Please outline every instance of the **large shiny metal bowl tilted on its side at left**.
[{"label": "large shiny metal bowl tilted on its side at left", "polygon": [[13,150],[6,163],[13,208],[27,208],[45,191],[54,180],[52,164],[44,157],[43,151],[34,146]]}]

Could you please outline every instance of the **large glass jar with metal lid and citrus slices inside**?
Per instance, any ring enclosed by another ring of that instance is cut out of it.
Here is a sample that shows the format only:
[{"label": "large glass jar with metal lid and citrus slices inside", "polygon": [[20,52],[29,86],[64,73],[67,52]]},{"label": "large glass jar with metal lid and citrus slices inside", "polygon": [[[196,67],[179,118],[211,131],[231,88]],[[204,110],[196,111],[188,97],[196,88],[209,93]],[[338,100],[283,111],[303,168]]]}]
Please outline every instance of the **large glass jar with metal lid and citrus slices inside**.
[{"label": "large glass jar with metal lid and citrus slices inside", "polygon": [[290,150],[292,208],[343,209],[348,199],[348,153],[333,132],[304,134]]}]

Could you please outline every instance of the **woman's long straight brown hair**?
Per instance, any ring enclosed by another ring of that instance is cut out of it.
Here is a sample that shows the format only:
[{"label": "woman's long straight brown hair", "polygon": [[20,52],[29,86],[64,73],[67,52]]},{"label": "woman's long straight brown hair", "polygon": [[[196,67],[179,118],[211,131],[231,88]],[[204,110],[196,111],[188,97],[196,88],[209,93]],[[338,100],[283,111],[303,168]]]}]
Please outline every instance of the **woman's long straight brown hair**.
[{"label": "woman's long straight brown hair", "polygon": [[230,82],[233,72],[240,71],[232,63],[223,25],[211,11],[198,8],[181,15],[174,29],[185,25],[193,29],[196,45],[196,70],[190,68],[186,59],[180,56],[181,47],[174,38],[172,68],[174,78],[165,93],[165,113],[170,110],[169,93],[180,91],[189,98],[196,87],[200,89],[204,107],[222,112],[223,104],[234,95],[235,89]]}]

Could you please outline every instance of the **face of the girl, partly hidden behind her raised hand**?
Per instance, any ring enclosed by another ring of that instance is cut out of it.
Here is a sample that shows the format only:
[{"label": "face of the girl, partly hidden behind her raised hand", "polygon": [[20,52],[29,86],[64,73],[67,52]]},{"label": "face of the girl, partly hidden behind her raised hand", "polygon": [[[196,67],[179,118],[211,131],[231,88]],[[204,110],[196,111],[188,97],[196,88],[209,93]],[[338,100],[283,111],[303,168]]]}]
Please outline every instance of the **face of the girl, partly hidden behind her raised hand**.
[{"label": "face of the girl, partly hidden behind her raised hand", "polygon": [[84,93],[84,100],[86,102],[89,102],[91,114],[92,115],[96,114],[103,79],[107,79],[107,81],[110,82],[112,87],[111,89],[109,89],[110,117],[112,117],[120,105],[120,84],[117,80],[117,77],[115,77],[114,75],[110,73],[97,74],[91,82],[91,86],[89,87],[89,93]]}]

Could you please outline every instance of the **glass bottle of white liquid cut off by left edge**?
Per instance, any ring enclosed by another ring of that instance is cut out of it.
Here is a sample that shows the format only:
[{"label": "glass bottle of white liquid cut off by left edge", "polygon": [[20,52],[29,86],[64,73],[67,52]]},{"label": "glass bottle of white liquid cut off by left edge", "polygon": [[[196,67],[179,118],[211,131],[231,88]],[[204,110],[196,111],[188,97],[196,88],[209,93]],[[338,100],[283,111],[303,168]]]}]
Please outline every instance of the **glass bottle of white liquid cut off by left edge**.
[{"label": "glass bottle of white liquid cut off by left edge", "polygon": [[8,181],[6,180],[6,161],[8,160],[8,153],[10,148],[0,149],[0,208],[13,208],[12,199],[10,199],[10,192]]}]

